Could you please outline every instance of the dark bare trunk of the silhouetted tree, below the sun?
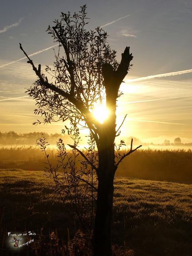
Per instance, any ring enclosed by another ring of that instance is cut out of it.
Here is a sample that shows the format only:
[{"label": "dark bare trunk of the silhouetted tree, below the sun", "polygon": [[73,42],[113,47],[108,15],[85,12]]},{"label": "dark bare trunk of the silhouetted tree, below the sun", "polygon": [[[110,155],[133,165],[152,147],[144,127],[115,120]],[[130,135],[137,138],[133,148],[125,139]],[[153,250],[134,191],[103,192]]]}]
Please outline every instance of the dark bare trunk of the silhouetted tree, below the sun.
[{"label": "dark bare trunk of the silhouetted tree, below the sun", "polygon": [[111,225],[114,195],[115,124],[104,125],[100,133],[98,192],[93,236],[93,256],[111,256]]}]

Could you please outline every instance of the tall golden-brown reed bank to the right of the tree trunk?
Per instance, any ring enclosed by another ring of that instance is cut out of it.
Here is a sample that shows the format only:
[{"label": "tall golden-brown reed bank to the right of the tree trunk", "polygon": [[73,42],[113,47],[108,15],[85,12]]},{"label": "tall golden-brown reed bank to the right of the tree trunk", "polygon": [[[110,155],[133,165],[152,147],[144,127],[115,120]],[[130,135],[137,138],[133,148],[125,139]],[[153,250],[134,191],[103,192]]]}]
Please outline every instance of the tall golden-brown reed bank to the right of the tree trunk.
[{"label": "tall golden-brown reed bank to the right of the tree trunk", "polygon": [[192,150],[137,150],[121,162],[117,174],[191,184]]}]

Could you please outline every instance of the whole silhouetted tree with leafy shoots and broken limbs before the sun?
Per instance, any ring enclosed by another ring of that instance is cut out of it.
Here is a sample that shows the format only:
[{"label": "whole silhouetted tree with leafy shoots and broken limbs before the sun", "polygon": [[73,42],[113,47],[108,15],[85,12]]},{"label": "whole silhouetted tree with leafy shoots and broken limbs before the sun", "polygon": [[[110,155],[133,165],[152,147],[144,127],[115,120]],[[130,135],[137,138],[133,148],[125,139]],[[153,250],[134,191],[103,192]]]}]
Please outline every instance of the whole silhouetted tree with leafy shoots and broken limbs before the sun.
[{"label": "whole silhouetted tree with leafy shoots and broken limbs before the sun", "polygon": [[[86,31],[86,19],[84,5],[73,16],[69,12],[61,13],[61,21],[55,20],[55,26],[48,27],[48,33],[59,43],[54,67],[46,68],[52,74],[51,82],[41,72],[40,64],[35,67],[21,44],[20,48],[38,76],[35,85],[28,89],[28,94],[37,101],[35,114],[44,115],[45,123],[69,120],[73,127],[88,128],[96,142],[99,164],[92,166],[98,179],[93,255],[108,256],[111,255],[114,175],[121,160],[140,147],[133,150],[132,140],[130,151],[116,155],[115,161],[114,140],[120,134],[120,127],[116,128],[116,101],[133,56],[126,47],[118,63],[116,52],[107,43],[107,33],[99,27]],[[96,104],[106,104],[109,110],[103,124],[92,113]],[[78,148],[71,147],[83,155]]]}]

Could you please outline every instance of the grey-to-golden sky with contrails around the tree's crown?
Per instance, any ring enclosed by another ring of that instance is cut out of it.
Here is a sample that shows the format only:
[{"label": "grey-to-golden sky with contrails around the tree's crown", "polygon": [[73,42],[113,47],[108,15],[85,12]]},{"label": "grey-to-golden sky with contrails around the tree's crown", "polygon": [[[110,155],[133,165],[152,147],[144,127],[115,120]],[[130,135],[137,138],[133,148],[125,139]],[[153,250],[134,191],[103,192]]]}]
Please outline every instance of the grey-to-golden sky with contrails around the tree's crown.
[{"label": "grey-to-golden sky with contrails around the tree's crown", "polygon": [[[87,6],[87,30],[100,26],[117,52],[126,46],[134,58],[117,102],[117,124],[124,137],[144,142],[192,142],[191,0],[2,0],[0,8],[0,132],[61,132],[62,123],[33,126],[35,101],[26,88],[36,80],[19,43],[36,66],[52,66],[46,29]],[[24,58],[24,59],[23,59]]]}]

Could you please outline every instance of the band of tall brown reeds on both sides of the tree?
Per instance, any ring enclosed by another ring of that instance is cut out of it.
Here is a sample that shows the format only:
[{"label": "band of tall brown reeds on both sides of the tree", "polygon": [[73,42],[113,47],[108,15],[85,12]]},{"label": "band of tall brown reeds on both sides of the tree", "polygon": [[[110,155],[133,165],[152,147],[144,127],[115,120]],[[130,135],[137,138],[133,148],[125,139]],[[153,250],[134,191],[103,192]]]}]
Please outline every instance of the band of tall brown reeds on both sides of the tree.
[{"label": "band of tall brown reeds on both sides of the tree", "polygon": [[[57,151],[48,149],[47,153],[54,165],[58,160]],[[45,154],[37,147],[0,148],[0,168],[3,169],[44,170],[44,162]],[[137,150],[122,161],[116,174],[192,184],[192,150]]]}]

